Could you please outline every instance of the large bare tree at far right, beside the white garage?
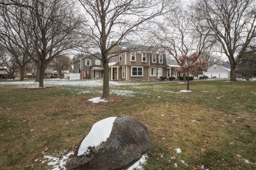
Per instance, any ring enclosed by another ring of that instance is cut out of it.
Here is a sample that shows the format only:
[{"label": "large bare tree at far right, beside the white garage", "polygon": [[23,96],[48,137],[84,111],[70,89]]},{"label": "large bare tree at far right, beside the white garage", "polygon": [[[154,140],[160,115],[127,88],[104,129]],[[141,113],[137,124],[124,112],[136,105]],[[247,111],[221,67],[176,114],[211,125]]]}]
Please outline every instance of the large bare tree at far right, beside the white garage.
[{"label": "large bare tree at far right, beside the white garage", "polygon": [[219,52],[229,59],[230,80],[236,81],[236,66],[256,37],[254,0],[199,0],[194,6],[202,28],[210,29]]}]

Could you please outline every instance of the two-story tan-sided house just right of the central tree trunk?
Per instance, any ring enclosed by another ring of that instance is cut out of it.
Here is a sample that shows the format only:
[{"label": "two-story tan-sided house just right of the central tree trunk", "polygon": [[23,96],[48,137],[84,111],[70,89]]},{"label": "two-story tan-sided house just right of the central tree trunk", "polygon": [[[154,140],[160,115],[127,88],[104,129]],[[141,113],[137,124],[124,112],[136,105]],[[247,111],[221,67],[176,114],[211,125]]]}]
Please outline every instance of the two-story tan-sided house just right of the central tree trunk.
[{"label": "two-story tan-sided house just right of the central tree trunk", "polygon": [[156,47],[123,43],[110,53],[113,53],[108,56],[110,80],[157,80],[167,77],[166,54]]}]

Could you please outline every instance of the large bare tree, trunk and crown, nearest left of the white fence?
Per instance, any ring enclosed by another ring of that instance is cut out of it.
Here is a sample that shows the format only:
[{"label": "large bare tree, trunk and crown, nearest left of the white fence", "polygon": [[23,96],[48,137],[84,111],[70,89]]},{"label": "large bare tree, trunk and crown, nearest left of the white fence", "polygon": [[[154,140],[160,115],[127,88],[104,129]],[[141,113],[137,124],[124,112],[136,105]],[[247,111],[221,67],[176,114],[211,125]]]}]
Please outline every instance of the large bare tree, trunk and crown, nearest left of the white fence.
[{"label": "large bare tree, trunk and crown, nearest left of the white fence", "polygon": [[53,58],[60,56],[79,43],[79,29],[83,19],[75,11],[73,1],[38,0],[30,2],[30,37],[36,55],[39,87],[44,86],[44,71]]}]

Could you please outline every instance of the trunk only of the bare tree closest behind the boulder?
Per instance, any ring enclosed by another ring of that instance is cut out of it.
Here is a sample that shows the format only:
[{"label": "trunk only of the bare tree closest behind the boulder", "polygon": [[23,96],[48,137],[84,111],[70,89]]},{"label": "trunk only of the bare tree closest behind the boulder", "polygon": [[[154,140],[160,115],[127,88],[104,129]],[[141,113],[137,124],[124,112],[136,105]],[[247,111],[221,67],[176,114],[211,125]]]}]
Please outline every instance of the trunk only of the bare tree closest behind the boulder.
[{"label": "trunk only of the bare tree closest behind the boulder", "polygon": [[[103,57],[103,56],[102,56]],[[102,60],[103,65],[103,93],[102,97],[103,99],[109,98],[109,67],[108,62]]]}]

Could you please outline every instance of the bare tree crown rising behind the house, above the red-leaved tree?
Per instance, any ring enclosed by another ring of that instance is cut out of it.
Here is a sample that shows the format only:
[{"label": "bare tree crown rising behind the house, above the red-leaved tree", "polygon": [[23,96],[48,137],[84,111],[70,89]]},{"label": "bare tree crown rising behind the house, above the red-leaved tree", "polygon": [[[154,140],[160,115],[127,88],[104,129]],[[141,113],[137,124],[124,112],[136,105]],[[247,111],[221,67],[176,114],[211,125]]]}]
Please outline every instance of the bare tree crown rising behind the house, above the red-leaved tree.
[{"label": "bare tree crown rising behind the house, above the red-leaved tree", "polygon": [[178,63],[180,56],[194,52],[200,56],[209,47],[209,30],[200,29],[199,22],[193,18],[193,11],[184,8],[179,6],[165,17],[164,22],[157,22],[150,37],[151,42],[167,50]]}]

